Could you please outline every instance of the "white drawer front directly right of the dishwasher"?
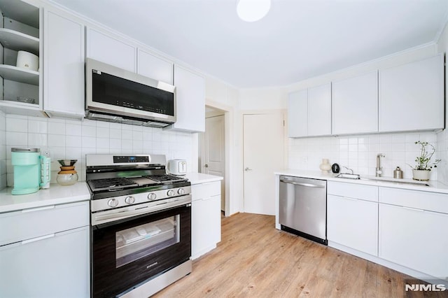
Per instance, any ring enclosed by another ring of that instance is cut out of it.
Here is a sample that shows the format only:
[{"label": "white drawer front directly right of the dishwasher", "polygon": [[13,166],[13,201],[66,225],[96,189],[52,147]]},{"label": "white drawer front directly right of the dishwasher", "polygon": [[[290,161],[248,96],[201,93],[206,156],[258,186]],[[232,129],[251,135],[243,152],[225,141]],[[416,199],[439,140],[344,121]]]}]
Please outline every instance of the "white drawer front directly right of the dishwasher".
[{"label": "white drawer front directly right of the dishwasher", "polygon": [[339,197],[378,201],[378,187],[372,185],[328,181],[327,193]]}]

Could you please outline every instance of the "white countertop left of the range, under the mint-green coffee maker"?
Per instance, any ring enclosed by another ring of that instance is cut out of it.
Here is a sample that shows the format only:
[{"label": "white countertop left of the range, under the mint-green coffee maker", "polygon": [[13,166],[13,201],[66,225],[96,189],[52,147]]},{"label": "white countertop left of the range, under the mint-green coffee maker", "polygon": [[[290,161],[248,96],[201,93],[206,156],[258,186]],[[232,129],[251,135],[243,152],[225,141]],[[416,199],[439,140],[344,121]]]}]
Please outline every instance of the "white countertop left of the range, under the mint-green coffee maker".
[{"label": "white countertop left of the range, under the mint-green coffee maker", "polygon": [[73,185],[50,184],[50,188],[32,194],[11,194],[12,187],[0,190],[0,213],[28,208],[90,200],[85,181]]}]

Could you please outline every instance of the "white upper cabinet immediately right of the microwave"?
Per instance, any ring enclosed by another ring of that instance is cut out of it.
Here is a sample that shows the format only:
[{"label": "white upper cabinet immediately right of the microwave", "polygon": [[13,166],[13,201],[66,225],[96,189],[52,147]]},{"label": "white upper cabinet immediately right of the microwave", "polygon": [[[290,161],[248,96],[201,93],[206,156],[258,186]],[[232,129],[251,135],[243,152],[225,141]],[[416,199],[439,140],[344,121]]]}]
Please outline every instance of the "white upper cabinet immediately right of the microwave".
[{"label": "white upper cabinet immediately right of the microwave", "polygon": [[174,66],[176,123],[165,129],[205,131],[205,80],[181,66]]}]

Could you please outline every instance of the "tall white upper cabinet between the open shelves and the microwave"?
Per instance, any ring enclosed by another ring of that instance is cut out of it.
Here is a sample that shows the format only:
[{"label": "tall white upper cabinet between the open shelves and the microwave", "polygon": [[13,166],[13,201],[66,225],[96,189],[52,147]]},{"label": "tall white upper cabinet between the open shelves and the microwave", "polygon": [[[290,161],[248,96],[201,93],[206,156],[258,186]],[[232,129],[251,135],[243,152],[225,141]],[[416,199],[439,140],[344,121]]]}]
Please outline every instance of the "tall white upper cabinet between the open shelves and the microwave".
[{"label": "tall white upper cabinet between the open shelves and the microwave", "polygon": [[84,117],[84,26],[45,10],[44,100],[48,115]]}]

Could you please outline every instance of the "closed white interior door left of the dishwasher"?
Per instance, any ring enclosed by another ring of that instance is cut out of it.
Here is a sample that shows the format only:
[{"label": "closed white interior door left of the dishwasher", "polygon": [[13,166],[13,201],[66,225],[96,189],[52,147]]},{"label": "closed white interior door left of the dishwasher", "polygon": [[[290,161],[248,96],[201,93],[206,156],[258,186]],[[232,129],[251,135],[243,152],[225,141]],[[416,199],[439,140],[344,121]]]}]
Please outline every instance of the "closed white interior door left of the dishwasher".
[{"label": "closed white interior door left of the dishwasher", "polygon": [[244,212],[275,215],[274,171],[283,169],[283,113],[244,117]]}]

